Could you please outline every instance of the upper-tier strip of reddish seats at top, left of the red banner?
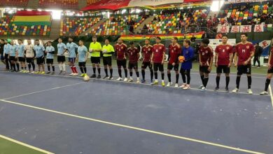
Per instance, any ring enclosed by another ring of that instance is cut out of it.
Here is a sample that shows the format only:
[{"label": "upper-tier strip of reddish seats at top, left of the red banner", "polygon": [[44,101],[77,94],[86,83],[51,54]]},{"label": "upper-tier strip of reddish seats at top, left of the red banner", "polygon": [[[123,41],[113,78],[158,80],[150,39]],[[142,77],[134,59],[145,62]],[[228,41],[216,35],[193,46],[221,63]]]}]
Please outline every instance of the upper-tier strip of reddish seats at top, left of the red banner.
[{"label": "upper-tier strip of reddish seats at top, left of the red banner", "polygon": [[78,0],[39,0],[39,6],[41,8],[69,8],[78,9]]}]

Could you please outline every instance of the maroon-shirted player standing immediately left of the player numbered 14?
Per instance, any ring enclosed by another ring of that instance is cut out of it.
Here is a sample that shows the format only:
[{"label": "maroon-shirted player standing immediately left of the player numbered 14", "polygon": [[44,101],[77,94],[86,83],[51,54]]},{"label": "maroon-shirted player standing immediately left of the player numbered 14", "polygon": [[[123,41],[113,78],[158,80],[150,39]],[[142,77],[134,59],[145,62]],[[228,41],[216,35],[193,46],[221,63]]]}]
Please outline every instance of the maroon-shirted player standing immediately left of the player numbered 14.
[{"label": "maroon-shirted player standing immediately left of the player numbered 14", "polygon": [[232,45],[228,44],[228,36],[222,37],[222,43],[215,49],[215,66],[216,66],[216,88],[219,90],[221,73],[225,73],[225,91],[229,92],[228,84],[230,83],[230,66],[233,59]]}]

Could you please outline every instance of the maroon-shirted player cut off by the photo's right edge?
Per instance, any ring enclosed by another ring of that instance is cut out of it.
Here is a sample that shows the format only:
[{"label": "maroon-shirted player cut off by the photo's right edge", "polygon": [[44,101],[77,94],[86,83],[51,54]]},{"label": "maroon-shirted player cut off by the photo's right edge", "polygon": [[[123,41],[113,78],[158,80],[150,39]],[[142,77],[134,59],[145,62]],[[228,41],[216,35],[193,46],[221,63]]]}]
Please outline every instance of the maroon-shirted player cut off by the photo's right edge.
[{"label": "maroon-shirted player cut off by the photo's right edge", "polygon": [[273,76],[273,48],[271,48],[271,52],[269,54],[269,58],[268,58],[268,70],[267,70],[267,79],[265,80],[265,91],[264,92],[260,92],[260,94],[264,95],[264,94],[268,94],[267,90],[268,90],[268,86],[270,84],[270,80]]}]

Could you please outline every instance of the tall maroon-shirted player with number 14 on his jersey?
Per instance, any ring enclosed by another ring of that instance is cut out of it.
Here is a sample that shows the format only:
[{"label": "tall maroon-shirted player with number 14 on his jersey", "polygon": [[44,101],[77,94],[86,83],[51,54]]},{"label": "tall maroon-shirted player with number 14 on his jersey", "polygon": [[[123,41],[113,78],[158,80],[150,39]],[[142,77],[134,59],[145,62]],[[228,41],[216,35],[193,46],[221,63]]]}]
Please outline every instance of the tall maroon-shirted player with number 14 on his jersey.
[{"label": "tall maroon-shirted player with number 14 on his jersey", "polygon": [[246,73],[248,83],[248,94],[252,94],[251,90],[251,58],[254,55],[254,45],[247,41],[247,34],[241,34],[241,42],[237,43],[235,48],[235,67],[237,68],[236,88],[232,92],[239,92],[241,75]]}]

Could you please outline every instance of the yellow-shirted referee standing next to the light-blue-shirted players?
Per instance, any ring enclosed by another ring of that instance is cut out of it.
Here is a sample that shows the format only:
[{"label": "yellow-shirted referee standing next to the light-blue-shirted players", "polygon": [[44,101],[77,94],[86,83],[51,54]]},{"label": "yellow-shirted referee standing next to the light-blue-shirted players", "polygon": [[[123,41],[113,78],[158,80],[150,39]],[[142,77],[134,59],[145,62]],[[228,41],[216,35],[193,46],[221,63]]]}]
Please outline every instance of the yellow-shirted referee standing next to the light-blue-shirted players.
[{"label": "yellow-shirted referee standing next to the light-blue-shirted players", "polygon": [[99,64],[101,63],[101,52],[102,52],[102,45],[101,43],[97,42],[97,37],[93,36],[92,43],[89,46],[89,52],[91,53],[91,63],[93,67],[93,75],[90,78],[96,78],[96,67],[98,71],[97,78],[101,78],[101,68]]}]

